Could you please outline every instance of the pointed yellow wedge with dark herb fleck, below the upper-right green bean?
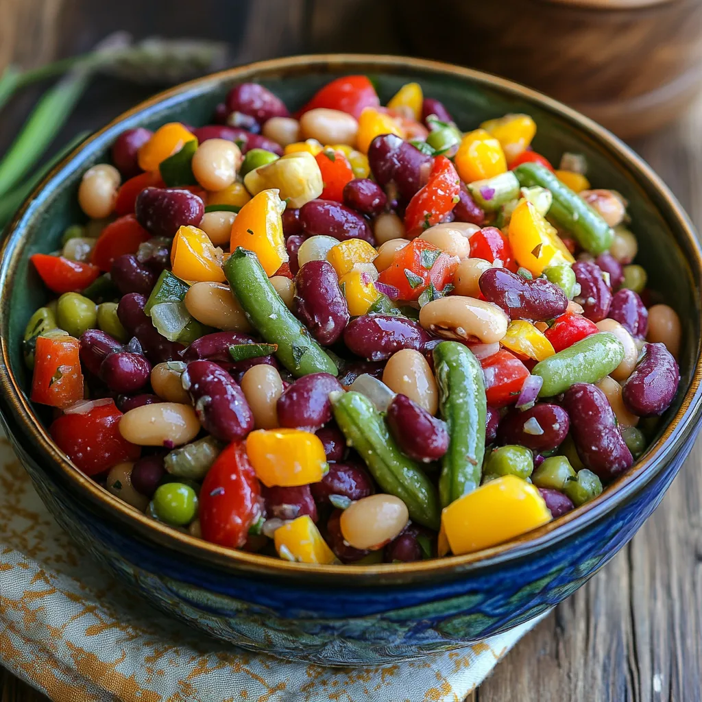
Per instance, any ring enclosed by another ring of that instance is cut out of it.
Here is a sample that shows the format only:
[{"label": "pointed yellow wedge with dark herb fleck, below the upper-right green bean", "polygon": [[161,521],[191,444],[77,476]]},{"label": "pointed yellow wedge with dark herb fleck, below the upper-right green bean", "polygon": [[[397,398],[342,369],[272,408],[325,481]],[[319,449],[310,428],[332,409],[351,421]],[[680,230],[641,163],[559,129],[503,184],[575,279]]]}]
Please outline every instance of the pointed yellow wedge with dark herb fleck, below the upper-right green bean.
[{"label": "pointed yellow wedge with dark herb fleck, below the upper-right green bean", "polygon": [[509,239],[517,263],[534,276],[550,265],[575,261],[556,230],[531,202],[521,202],[512,212]]}]

